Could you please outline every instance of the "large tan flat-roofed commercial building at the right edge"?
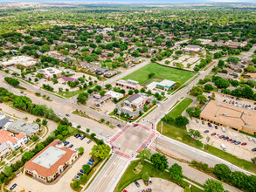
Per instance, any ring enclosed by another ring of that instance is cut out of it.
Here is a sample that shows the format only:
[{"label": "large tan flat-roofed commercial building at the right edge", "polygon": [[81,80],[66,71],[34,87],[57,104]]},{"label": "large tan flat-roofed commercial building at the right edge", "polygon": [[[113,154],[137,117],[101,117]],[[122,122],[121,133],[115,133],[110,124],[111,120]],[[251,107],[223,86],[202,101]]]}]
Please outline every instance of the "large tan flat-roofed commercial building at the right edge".
[{"label": "large tan flat-roofed commercial building at the right edge", "polygon": [[201,120],[256,134],[256,112],[211,100],[200,114]]}]

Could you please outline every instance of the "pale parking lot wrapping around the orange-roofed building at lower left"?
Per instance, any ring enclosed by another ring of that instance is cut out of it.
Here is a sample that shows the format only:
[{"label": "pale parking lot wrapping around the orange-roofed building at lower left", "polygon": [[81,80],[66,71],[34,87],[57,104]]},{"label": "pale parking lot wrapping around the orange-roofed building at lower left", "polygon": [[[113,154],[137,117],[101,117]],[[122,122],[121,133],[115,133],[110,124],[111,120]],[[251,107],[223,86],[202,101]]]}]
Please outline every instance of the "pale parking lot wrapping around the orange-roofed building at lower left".
[{"label": "pale parking lot wrapping around the orange-roofed building at lower left", "polygon": [[10,184],[7,186],[6,189],[10,189],[10,187],[17,183],[17,187],[13,189],[12,191],[21,191],[24,189],[24,191],[31,191],[31,192],[55,192],[55,191],[61,191],[61,192],[70,192],[73,191],[73,189],[70,188],[70,182],[72,182],[73,177],[77,175],[82,168],[84,164],[91,158],[90,152],[95,144],[93,141],[87,144],[87,141],[89,141],[87,138],[84,140],[80,140],[80,138],[75,138],[74,136],[71,136],[66,141],[69,141],[70,143],[67,145],[69,147],[71,144],[73,144],[73,147],[71,149],[75,149],[77,147],[84,147],[85,151],[82,156],[77,161],[74,161],[73,165],[67,169],[66,173],[62,175],[62,177],[59,178],[59,181],[55,184],[49,184],[45,185],[42,182],[38,182],[37,180],[24,175],[19,174],[17,175],[17,178],[15,178]]}]

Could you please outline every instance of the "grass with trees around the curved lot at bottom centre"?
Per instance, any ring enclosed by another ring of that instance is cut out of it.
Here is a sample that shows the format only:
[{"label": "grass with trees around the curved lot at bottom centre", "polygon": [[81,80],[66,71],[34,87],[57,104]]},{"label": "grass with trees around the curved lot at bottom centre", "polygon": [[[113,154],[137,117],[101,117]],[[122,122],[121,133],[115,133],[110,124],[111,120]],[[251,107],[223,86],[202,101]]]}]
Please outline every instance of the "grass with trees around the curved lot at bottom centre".
[{"label": "grass with trees around the curved lot at bottom centre", "polygon": [[[156,168],[154,168],[153,165],[148,161],[144,161],[142,171],[139,172],[138,174],[135,174],[133,170],[137,165],[138,165],[138,161],[133,161],[130,164],[130,166],[126,169],[126,172],[124,173],[124,175],[122,175],[121,180],[118,182],[116,188],[114,189],[114,192],[121,192],[121,190],[126,188],[130,183],[141,179],[142,175],[145,173],[148,173],[151,177],[158,177],[158,178],[162,178],[170,182],[173,182],[168,172],[157,171]],[[180,182],[180,184],[183,187],[190,185],[188,182],[184,182],[183,180]],[[202,191],[201,189],[197,189],[194,186],[192,186],[191,189],[192,189],[191,191],[193,192]]]}]

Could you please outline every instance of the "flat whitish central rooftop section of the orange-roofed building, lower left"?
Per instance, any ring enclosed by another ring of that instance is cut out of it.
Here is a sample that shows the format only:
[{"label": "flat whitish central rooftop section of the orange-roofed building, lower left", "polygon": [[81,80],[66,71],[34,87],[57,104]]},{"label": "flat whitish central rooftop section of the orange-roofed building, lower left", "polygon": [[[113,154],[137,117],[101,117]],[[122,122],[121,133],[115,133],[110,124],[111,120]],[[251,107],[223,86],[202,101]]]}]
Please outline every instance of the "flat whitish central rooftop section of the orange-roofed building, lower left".
[{"label": "flat whitish central rooftop section of the orange-roofed building, lower left", "polygon": [[58,161],[66,151],[61,150],[58,147],[50,146],[42,154],[38,155],[32,162],[37,163],[45,168],[51,168],[56,161]]}]

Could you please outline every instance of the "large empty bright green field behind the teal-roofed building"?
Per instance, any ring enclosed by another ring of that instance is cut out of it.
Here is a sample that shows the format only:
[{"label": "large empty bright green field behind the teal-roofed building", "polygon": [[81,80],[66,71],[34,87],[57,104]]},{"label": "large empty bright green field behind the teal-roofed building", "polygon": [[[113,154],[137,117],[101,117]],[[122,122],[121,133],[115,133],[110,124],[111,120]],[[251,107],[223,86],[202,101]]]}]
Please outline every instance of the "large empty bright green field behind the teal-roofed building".
[{"label": "large empty bright green field behind the teal-roofed building", "polygon": [[141,69],[124,77],[124,80],[133,79],[142,84],[149,79],[149,73],[154,72],[157,78],[169,79],[172,81],[181,80],[183,83],[194,76],[194,72],[185,71],[182,69],[176,69],[169,66],[163,66],[159,64],[149,64],[143,66]]}]

